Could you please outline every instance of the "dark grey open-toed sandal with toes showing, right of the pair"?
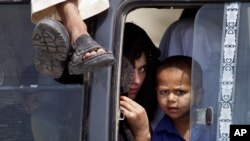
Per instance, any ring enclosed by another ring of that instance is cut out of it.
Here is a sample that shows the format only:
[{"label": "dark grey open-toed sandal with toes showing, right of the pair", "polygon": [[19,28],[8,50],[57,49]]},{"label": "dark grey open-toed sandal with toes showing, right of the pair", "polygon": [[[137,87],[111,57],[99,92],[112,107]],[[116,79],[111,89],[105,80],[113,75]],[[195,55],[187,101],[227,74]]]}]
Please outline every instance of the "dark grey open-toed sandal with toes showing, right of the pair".
[{"label": "dark grey open-toed sandal with toes showing, right of the pair", "polygon": [[114,64],[114,56],[89,35],[83,34],[72,44],[74,53],[68,64],[69,74],[82,74]]}]

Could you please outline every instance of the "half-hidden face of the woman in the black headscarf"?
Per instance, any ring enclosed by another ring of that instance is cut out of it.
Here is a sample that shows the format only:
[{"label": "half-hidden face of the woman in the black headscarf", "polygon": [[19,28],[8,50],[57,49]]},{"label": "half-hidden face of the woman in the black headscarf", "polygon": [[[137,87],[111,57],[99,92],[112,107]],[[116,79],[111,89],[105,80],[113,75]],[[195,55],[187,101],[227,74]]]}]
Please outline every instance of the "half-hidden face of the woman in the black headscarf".
[{"label": "half-hidden face of the woman in the black headscarf", "polygon": [[142,53],[141,57],[135,60],[135,69],[133,81],[130,83],[128,97],[135,99],[137,93],[139,92],[142,83],[144,82],[146,76],[146,56],[145,53]]}]

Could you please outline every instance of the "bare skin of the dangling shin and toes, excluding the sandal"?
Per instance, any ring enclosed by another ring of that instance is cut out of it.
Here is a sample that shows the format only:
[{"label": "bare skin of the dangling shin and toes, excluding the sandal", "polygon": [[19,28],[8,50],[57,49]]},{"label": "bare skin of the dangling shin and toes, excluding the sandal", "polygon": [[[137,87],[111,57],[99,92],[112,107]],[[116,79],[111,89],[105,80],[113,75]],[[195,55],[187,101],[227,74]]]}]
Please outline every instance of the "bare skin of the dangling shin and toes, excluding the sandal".
[{"label": "bare skin of the dangling shin and toes, excluding the sandal", "polygon": [[[60,14],[63,25],[66,27],[67,31],[70,34],[71,43],[73,43],[82,34],[89,35],[87,26],[79,15],[76,0],[68,0],[66,2],[58,4],[57,10]],[[97,51],[86,53],[83,56],[83,59],[102,53],[105,53],[105,50],[98,49]]]}]

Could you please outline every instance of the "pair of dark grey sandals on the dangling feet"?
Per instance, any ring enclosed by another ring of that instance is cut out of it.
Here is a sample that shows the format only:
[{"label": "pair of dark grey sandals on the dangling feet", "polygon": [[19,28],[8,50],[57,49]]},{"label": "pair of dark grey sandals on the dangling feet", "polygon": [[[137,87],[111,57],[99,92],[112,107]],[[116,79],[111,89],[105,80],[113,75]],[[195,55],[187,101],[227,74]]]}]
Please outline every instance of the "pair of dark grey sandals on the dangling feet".
[{"label": "pair of dark grey sandals on the dangling feet", "polygon": [[[32,44],[35,48],[36,69],[53,78],[61,77],[67,64],[70,74],[82,74],[114,63],[113,54],[87,34],[78,37],[70,46],[69,34],[64,25],[50,18],[43,18],[36,25]],[[67,62],[68,59],[70,62]]]}]

